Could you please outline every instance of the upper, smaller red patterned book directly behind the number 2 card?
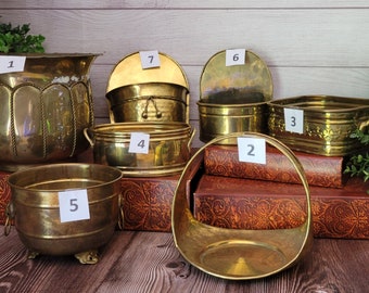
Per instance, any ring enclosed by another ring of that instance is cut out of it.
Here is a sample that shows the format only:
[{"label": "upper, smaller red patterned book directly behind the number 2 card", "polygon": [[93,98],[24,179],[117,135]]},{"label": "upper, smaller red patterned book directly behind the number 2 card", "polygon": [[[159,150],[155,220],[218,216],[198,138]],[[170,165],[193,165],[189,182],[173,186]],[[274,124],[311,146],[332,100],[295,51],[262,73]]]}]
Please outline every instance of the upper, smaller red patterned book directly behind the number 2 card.
[{"label": "upper, smaller red patterned book directly behind the number 2 card", "polygon": [[[347,180],[343,175],[345,160],[294,152],[304,167],[310,186],[342,188]],[[239,161],[236,145],[209,145],[204,153],[205,173],[208,175],[298,183],[298,175],[289,158],[276,148],[267,146],[266,164]]]}]

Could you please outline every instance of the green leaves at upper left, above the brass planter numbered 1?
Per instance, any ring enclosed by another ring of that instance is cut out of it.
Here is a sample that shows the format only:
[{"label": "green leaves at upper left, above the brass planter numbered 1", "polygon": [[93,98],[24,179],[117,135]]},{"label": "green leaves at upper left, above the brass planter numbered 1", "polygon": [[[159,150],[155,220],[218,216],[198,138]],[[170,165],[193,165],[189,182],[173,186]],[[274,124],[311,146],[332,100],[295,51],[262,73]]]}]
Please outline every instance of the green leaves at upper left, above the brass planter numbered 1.
[{"label": "green leaves at upper left, above the brass planter numbered 1", "polygon": [[12,27],[0,24],[0,52],[3,53],[43,53],[41,35],[28,35],[29,24]]}]

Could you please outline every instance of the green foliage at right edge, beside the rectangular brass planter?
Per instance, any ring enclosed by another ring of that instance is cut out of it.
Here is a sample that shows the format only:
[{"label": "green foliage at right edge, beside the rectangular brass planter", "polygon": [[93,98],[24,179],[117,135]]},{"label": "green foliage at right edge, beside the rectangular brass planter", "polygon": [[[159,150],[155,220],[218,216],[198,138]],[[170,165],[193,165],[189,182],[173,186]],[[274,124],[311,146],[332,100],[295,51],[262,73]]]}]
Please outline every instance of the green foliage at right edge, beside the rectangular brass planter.
[{"label": "green foliage at right edge, beside the rectangular brass planter", "polygon": [[[360,129],[356,129],[351,138],[358,139],[362,145],[369,144],[369,133],[365,133]],[[344,174],[349,174],[351,177],[362,177],[364,181],[369,180],[369,153],[352,155],[346,164]]]}]

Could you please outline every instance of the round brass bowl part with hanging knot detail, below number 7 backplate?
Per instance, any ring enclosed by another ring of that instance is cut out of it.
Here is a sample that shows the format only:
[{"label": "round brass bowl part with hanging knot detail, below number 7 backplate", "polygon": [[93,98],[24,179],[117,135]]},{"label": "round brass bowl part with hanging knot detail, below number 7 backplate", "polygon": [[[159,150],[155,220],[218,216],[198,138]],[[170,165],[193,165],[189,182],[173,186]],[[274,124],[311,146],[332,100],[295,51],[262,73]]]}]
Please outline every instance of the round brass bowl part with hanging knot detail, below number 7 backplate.
[{"label": "round brass bowl part with hanging knot detail, below number 7 backplate", "polygon": [[145,82],[106,93],[112,123],[189,122],[189,90],[180,85]]}]

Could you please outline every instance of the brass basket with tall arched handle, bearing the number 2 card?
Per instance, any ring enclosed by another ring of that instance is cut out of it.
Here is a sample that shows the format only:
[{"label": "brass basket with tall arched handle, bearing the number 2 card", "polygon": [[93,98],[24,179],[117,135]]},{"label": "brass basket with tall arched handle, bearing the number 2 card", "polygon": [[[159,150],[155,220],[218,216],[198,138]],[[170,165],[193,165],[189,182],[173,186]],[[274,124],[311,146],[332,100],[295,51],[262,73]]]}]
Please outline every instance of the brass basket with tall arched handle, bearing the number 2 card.
[{"label": "brass basket with tall arched handle, bearing the number 2 card", "polygon": [[[226,229],[202,224],[193,217],[188,201],[191,191],[187,190],[187,182],[196,157],[203,155],[211,144],[219,144],[224,139],[234,142],[241,136],[265,139],[293,164],[306,193],[306,217],[302,226],[276,230]],[[238,132],[215,138],[202,146],[183,169],[173,201],[171,228],[175,244],[184,259],[212,276],[247,280],[282,271],[296,264],[313,244],[310,195],[304,169],[289,148],[266,135]]]}]

